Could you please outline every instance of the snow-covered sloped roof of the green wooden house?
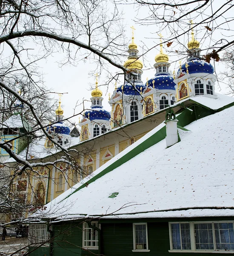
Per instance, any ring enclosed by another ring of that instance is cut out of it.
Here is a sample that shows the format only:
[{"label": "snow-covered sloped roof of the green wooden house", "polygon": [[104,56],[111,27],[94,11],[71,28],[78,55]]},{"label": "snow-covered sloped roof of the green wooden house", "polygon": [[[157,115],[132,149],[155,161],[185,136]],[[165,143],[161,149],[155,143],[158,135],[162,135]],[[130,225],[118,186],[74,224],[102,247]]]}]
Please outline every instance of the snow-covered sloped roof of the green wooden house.
[{"label": "snow-covered sloped roof of the green wooden house", "polygon": [[[100,175],[164,124],[95,171]],[[81,217],[181,218],[234,215],[234,107],[179,129],[179,143],[151,146],[111,172],[47,204],[54,221]],[[77,189],[77,190],[76,190]],[[116,197],[109,198],[113,193]],[[38,212],[40,213],[40,212]]]}]

